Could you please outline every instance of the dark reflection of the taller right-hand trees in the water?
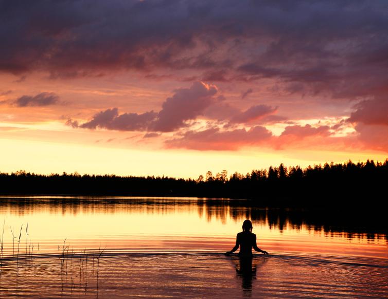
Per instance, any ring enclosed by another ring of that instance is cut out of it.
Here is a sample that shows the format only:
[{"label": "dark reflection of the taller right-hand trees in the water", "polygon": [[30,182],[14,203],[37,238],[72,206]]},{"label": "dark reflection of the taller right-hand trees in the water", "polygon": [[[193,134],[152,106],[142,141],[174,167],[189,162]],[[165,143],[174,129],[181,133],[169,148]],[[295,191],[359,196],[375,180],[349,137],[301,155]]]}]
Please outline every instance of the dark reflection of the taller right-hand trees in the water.
[{"label": "dark reflection of the taller right-hand trees in the water", "polygon": [[[220,209],[229,210],[228,216],[237,222],[251,219],[253,222],[266,224],[270,229],[280,232],[291,228],[293,230],[308,229],[309,231],[324,231],[325,236],[341,233],[346,238],[385,239],[388,242],[385,216],[381,211],[352,211],[330,209],[273,209],[250,206],[245,201],[245,207],[236,205],[231,201],[210,201],[211,209],[206,209],[207,218],[219,218],[214,213],[214,205]],[[240,202],[241,204],[241,202]],[[210,207],[209,207],[210,208]]]}]

